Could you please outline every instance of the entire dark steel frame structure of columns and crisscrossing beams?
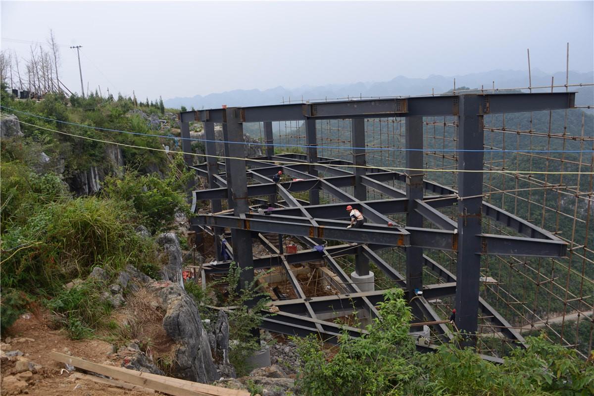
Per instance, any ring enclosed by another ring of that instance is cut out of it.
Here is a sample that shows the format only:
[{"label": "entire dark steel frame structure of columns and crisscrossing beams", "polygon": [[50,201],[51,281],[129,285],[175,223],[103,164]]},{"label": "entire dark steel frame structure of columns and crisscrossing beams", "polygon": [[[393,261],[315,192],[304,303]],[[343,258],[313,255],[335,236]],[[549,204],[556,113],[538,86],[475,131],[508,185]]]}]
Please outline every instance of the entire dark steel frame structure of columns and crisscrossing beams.
[{"label": "entire dark steel frame structure of columns and crisscrossing beams", "polygon": [[[284,334],[320,334],[331,341],[341,326],[321,321],[317,318],[320,313],[355,307],[378,317],[375,306],[385,290],[362,292],[336,261],[339,256],[355,255],[356,274],[368,274],[369,262],[374,263],[387,278],[405,290],[417,319],[440,321],[428,300],[455,296],[456,327],[460,331],[476,334],[481,311],[505,337],[523,344],[520,332],[479,297],[481,255],[563,257],[567,244],[546,230],[483,201],[483,118],[494,113],[569,109],[574,103],[574,93],[461,94],[182,112],[182,148],[188,153],[185,160],[197,175],[208,180],[209,186],[209,189],[192,192],[192,211],[197,213],[198,202],[203,200],[209,200],[211,207],[210,214],[198,214],[192,224],[212,233],[216,246],[220,246],[224,230],[230,229],[228,252],[242,268],[285,269],[298,298],[272,303],[279,312],[264,318],[263,327],[268,330]],[[433,116],[457,116],[459,120],[457,191],[424,179],[423,117]],[[393,169],[367,167],[365,119],[393,117],[405,118],[406,169],[394,172]],[[352,120],[351,161],[318,156],[315,123],[318,119]],[[203,122],[205,132],[206,162],[198,166],[194,166],[194,157],[189,155],[189,122],[194,121]],[[265,155],[247,161],[243,123],[263,123],[266,143],[272,144],[273,121],[302,122],[307,154],[275,155],[273,146],[268,145]],[[224,162],[217,158],[215,123],[222,124]],[[275,185],[271,176],[278,170],[301,180]],[[406,190],[394,188],[394,181],[405,183]],[[345,188],[352,188],[353,195],[345,192]],[[390,198],[369,200],[368,190]],[[308,192],[308,202],[293,197],[292,193],[296,192]],[[320,192],[332,195],[341,203],[320,204]],[[282,197],[282,202],[270,216],[251,210],[250,200],[255,203],[258,197],[276,198],[277,194]],[[222,200],[228,202],[229,211],[222,211]],[[347,204],[361,208],[365,214],[366,223],[361,229],[345,229],[348,222],[340,219],[347,217],[344,209]],[[453,205],[457,207],[457,221],[440,211]],[[388,217],[393,214],[405,214],[406,224],[393,225],[393,220]],[[481,223],[484,217],[512,229],[518,236],[483,233]],[[424,224],[430,224],[430,227]],[[275,246],[267,240],[267,233],[294,236],[309,248],[318,245],[320,239],[350,243],[327,247],[323,252],[311,249],[284,254],[282,243]],[[260,240],[270,255],[254,258],[252,239]],[[400,274],[377,254],[380,249],[394,246],[406,252],[406,274]],[[425,249],[455,252],[456,274],[425,255]],[[215,250],[220,261],[219,249]],[[320,260],[336,273],[348,293],[305,296],[290,264]],[[444,283],[423,284],[424,267],[435,271]],[[229,262],[206,266],[203,279],[208,273],[225,273],[228,268]],[[242,272],[242,282],[253,278],[253,271]],[[418,294],[419,290],[422,295]],[[352,335],[362,332],[359,328],[347,329]],[[451,338],[443,324],[434,325],[433,330],[444,340]],[[472,342],[473,337],[469,337],[469,343]]]}]

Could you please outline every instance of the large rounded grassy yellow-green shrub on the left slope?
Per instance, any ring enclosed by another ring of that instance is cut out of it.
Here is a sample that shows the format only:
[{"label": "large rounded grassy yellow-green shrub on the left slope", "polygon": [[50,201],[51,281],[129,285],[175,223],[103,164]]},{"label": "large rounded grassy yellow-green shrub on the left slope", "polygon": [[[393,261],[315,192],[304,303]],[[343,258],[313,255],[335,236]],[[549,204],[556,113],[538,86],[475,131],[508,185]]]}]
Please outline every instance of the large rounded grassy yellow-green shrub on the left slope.
[{"label": "large rounded grassy yellow-green shrub on the left slope", "polygon": [[131,218],[128,205],[94,197],[40,207],[26,224],[2,235],[2,247],[15,250],[0,267],[2,286],[51,294],[96,265],[140,266],[151,258],[152,242],[136,235]]}]

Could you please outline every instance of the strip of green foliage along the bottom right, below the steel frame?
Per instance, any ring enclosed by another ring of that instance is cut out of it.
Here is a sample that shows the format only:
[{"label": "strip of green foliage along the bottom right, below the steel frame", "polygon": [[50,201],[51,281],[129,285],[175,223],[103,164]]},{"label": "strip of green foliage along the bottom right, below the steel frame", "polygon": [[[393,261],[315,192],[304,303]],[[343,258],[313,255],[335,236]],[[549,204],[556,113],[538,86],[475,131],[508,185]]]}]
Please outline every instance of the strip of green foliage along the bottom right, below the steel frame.
[{"label": "strip of green foliage along the bottom right, below the steel frame", "polygon": [[415,351],[407,335],[410,308],[402,290],[392,290],[380,304],[382,320],[366,327],[367,335],[350,338],[345,331],[339,350],[327,357],[315,337],[295,338],[302,366],[298,387],[316,395],[590,395],[594,365],[576,352],[547,340],[527,339],[504,363],[487,362],[457,343],[443,344],[435,353]]}]

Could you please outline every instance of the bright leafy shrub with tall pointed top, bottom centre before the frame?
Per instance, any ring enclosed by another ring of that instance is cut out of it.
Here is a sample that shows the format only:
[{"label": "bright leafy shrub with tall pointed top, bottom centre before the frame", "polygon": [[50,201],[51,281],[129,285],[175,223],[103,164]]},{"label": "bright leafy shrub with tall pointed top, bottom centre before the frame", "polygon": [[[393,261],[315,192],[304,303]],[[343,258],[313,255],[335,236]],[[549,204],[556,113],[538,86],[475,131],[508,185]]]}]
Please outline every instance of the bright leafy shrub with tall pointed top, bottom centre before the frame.
[{"label": "bright leafy shrub with tall pointed top, bottom centre before the frame", "polygon": [[420,369],[409,363],[415,345],[409,337],[410,308],[400,289],[386,293],[380,303],[382,320],[366,327],[368,334],[340,335],[340,349],[326,361],[316,337],[293,338],[302,360],[298,387],[306,395],[408,394],[416,387]]}]

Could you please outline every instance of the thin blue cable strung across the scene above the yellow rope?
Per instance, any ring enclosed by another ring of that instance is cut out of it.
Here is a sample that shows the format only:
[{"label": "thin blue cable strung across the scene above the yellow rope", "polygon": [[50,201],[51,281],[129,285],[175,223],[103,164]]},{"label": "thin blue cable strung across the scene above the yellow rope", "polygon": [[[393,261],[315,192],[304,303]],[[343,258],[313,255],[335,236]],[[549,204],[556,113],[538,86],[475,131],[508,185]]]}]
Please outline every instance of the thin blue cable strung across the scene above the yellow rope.
[{"label": "thin blue cable strung across the scene above the yellow rope", "polygon": [[[99,126],[90,126],[90,125],[83,125],[81,123],[75,122],[68,122],[68,121],[60,121],[53,118],[39,116],[33,113],[23,112],[21,110],[12,109],[12,107],[1,106],[2,109],[11,110],[17,113],[21,113],[24,115],[28,115],[35,118],[45,119],[48,121],[64,123],[67,125],[75,125],[75,126],[82,126],[84,128],[90,129],[99,129],[100,131],[108,131],[108,132],[118,132],[122,134],[129,134],[129,135],[140,135],[140,136],[148,136],[151,138],[171,138],[168,135],[157,135],[157,134],[144,134],[142,132],[129,132],[129,131],[121,131],[119,129],[110,129],[110,128],[100,128]],[[92,107],[91,107],[92,108]],[[184,138],[184,137],[175,137],[175,139],[179,140],[190,140],[190,141],[200,141],[200,142],[218,142],[218,143],[229,143],[229,144],[247,144],[247,145],[263,145],[263,146],[271,146],[271,147],[298,147],[298,148],[310,148],[311,146],[308,145],[300,145],[300,144],[279,144],[279,143],[264,143],[264,142],[232,142],[227,140],[208,140],[208,139],[197,139],[197,138]],[[426,151],[426,152],[446,152],[446,153],[458,153],[458,152],[470,152],[470,153],[594,153],[594,150],[464,150],[460,148],[432,148],[432,149],[425,149],[425,148],[403,148],[403,147],[344,147],[344,146],[328,146],[328,145],[318,145],[315,146],[317,148],[334,148],[340,150],[368,150],[368,151]]]}]

